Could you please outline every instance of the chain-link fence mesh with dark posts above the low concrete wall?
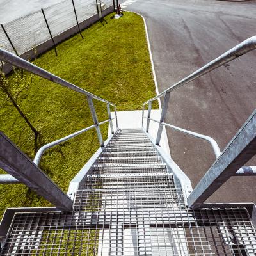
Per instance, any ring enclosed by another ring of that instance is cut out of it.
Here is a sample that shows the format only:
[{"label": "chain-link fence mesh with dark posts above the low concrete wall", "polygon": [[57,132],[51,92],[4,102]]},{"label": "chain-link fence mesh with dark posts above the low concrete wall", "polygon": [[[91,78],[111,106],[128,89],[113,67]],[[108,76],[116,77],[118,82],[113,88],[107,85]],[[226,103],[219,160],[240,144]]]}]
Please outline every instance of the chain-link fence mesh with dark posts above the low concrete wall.
[{"label": "chain-link fence mesh with dark posts above the low concrete wall", "polygon": [[[31,50],[36,51],[38,45],[47,41],[50,41],[51,44],[48,45],[53,47],[54,43],[61,41],[60,38],[54,40],[56,36],[60,37],[61,33],[68,31],[68,29],[72,30],[72,28],[76,28],[75,33],[78,33],[79,25],[81,26],[86,20],[92,19],[92,17],[97,17],[96,20],[99,20],[100,17],[107,14],[102,14],[102,11],[110,7],[112,8],[108,13],[113,11],[114,1],[64,0],[44,8],[44,10],[38,10],[6,24],[1,24],[0,47],[19,56]],[[86,26],[83,26],[83,28],[86,28]],[[69,36],[73,34],[74,29],[70,31]],[[49,47],[46,48],[49,49]],[[38,52],[38,54],[40,53],[42,52]],[[0,63],[1,65],[3,63]]]}]

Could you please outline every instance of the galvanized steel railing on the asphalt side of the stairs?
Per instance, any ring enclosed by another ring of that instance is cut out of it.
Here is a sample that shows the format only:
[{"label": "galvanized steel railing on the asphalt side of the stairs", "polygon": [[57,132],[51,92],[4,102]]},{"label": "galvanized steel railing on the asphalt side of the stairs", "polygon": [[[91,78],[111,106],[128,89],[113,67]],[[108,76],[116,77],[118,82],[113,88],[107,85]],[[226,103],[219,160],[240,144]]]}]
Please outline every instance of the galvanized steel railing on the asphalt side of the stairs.
[{"label": "galvanized steel railing on the asphalt side of the stairs", "polygon": [[[209,136],[205,136],[203,134],[196,133],[196,132],[191,132],[186,129],[182,129],[182,128],[176,127],[174,125],[166,124],[166,122],[164,122],[166,113],[168,110],[170,93],[173,92],[174,90],[177,90],[181,86],[184,86],[185,84],[188,84],[189,82],[194,81],[196,78],[204,76],[208,72],[211,72],[212,70],[214,70],[218,67],[221,67],[225,63],[228,63],[229,61],[232,61],[236,58],[239,58],[239,56],[242,56],[243,54],[246,54],[246,52],[250,52],[254,49],[256,49],[256,36],[252,36],[251,38],[244,40],[243,42],[241,42],[241,44],[236,45],[235,47],[233,47],[229,51],[225,52],[218,58],[216,58],[216,59],[212,60],[211,62],[207,63],[206,65],[204,65],[204,67],[199,68],[198,70],[196,70],[189,76],[180,80],[178,83],[175,83],[175,84],[173,84],[173,86],[170,86],[170,88],[159,93],[159,95],[157,95],[156,97],[153,97],[152,99],[149,99],[147,102],[143,103],[143,110],[142,110],[142,126],[143,127],[144,127],[144,119],[147,119],[145,131],[148,132],[148,130],[149,130],[150,120],[159,123],[157,137],[156,137],[156,145],[159,145],[159,143],[160,143],[161,134],[163,132],[163,127],[165,125],[167,127],[175,129],[177,131],[184,132],[190,136],[194,136],[194,137],[197,137],[200,139],[207,140],[211,144],[211,146],[214,150],[214,154],[216,156],[215,163],[217,165],[220,164],[220,162],[221,162],[220,159],[221,160],[226,159],[226,161],[228,161],[228,157],[229,158],[232,157],[231,153],[229,156],[226,155],[227,152],[225,152],[225,150],[223,150],[223,152],[221,153],[220,148],[218,147],[218,144],[216,143],[216,141],[213,138],[211,138]],[[152,102],[154,100],[159,99],[160,97],[164,97],[164,99],[163,99],[163,106],[162,106],[160,120],[158,121],[158,120],[154,120],[154,119],[150,118],[150,116],[151,116]],[[147,111],[147,117],[146,117],[146,116],[144,116],[144,111],[145,111],[145,106],[147,104],[148,104],[148,111]],[[255,119],[256,119],[255,113],[253,113],[251,122],[256,122]],[[246,121],[246,122],[248,122],[248,121]],[[239,153],[239,157],[241,157],[241,155],[240,155],[240,153],[241,153],[243,155],[244,159],[248,159],[248,156],[250,156],[250,158],[251,158],[254,154],[256,154],[255,149],[253,149],[252,146],[250,147],[250,145],[253,145],[253,141],[256,138],[256,128],[253,127],[252,125],[250,126],[250,128],[248,128],[248,126],[246,126],[246,123],[245,123],[243,126],[243,129],[239,132],[241,132],[241,133],[244,132],[246,134],[244,136],[247,136],[247,137],[252,136],[252,141],[248,141],[248,145],[246,145],[246,146],[248,146],[248,150],[243,148],[244,152],[241,152],[241,151],[239,152],[239,150],[235,147],[236,145],[233,145],[232,148],[235,151],[238,150],[237,152]],[[241,134],[237,133],[236,136],[233,138],[233,141],[239,141],[237,138],[241,138]],[[240,141],[240,143],[243,143],[243,142]],[[236,148],[236,149],[234,149],[234,148]],[[214,180],[212,178],[214,176],[214,175],[212,175],[212,172],[214,172],[214,171],[211,171],[211,168],[210,168],[210,170],[205,174],[205,176],[202,178],[202,180],[196,186],[193,193],[191,193],[191,195],[189,196],[189,198],[188,198],[189,206],[199,207],[200,205],[202,205],[204,203],[204,201],[210,195],[212,195],[212,193],[214,193],[214,191],[216,191],[216,189],[220,188],[221,184],[223,184],[223,180],[227,180],[229,177],[231,177],[233,175],[239,176],[239,175],[255,175],[256,174],[255,167],[243,166],[243,164],[246,162],[236,161],[237,156],[236,157],[233,156],[233,157],[234,157],[234,161],[236,162],[236,164],[234,165],[235,167],[233,166],[232,171],[229,170],[229,173],[227,174],[227,170],[225,168],[223,168],[223,166],[221,166],[222,168],[220,168],[221,170],[219,173],[220,177],[216,177],[216,180]],[[243,164],[241,164],[241,163],[243,163]],[[205,180],[207,180],[208,183]],[[209,180],[211,180],[211,182]],[[208,184],[208,186],[204,186],[205,184]],[[204,194],[204,196],[203,196],[203,194]]]}]

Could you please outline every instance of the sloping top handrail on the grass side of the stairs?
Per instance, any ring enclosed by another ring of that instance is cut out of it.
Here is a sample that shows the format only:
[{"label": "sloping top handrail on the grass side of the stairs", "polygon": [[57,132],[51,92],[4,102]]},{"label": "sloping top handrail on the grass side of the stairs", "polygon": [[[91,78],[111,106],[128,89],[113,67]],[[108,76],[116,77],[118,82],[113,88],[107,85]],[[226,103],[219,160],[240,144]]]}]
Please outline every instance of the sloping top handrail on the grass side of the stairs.
[{"label": "sloping top handrail on the grass side of the stairs", "polygon": [[102,102],[108,103],[111,106],[115,107],[115,104],[112,104],[108,100],[104,100],[93,93],[87,92],[86,90],[69,83],[68,81],[65,81],[64,79],[61,79],[58,76],[55,76],[54,74],[51,74],[50,72],[44,70],[43,68],[37,67],[33,63],[30,63],[29,61],[26,61],[22,58],[20,58],[17,55],[12,54],[11,52],[8,52],[2,48],[0,48],[0,60],[4,61],[6,63],[9,63],[10,65],[13,65],[18,68],[22,68],[28,72],[31,72],[37,76],[43,77],[49,81],[52,81],[54,83],[60,84],[61,86],[65,86],[67,88],[70,88],[71,90],[74,90],[79,93],[83,93],[84,95],[91,96],[93,99],[100,100]]}]

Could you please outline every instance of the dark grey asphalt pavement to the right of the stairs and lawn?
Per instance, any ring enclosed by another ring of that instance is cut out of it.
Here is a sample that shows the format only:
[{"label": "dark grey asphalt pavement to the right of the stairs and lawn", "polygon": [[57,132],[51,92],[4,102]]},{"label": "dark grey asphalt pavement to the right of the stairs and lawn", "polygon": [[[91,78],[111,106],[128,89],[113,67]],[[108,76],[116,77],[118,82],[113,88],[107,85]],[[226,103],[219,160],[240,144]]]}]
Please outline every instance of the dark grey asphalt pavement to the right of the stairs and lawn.
[{"label": "dark grey asphalt pavement to the right of the stairs and lawn", "polygon": [[[159,92],[256,35],[256,1],[138,0],[147,22]],[[166,122],[212,136],[221,150],[255,109],[256,52],[173,92]],[[168,131],[173,159],[195,184],[214,161],[205,141]],[[256,161],[252,161],[256,164]],[[232,177],[208,202],[255,202],[256,177]]]}]

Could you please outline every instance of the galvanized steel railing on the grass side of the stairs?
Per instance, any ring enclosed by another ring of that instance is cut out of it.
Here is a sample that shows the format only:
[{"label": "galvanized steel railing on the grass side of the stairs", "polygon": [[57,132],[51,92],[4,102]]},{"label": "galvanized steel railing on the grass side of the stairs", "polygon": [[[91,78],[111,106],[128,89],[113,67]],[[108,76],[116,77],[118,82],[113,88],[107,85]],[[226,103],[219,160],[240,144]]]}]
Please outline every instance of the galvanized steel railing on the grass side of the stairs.
[{"label": "galvanized steel railing on the grass side of the stairs", "polygon": [[[115,104],[112,104],[108,100],[102,99],[102,98],[98,97],[97,95],[94,95],[93,93],[87,92],[86,90],[84,90],[82,88],[79,88],[78,86],[76,86],[72,83],[69,83],[68,81],[65,81],[64,79],[61,79],[60,77],[55,76],[54,74],[51,74],[50,72],[48,72],[48,71],[46,71],[46,70],[44,70],[40,67],[37,67],[33,63],[30,63],[29,61],[23,60],[19,56],[16,56],[15,54],[12,54],[11,52],[5,51],[4,49],[1,49],[1,48],[0,48],[0,60],[4,61],[6,63],[9,63],[10,65],[13,65],[17,68],[22,68],[22,70],[26,70],[28,72],[31,72],[32,74],[43,77],[43,78],[45,78],[49,81],[52,81],[56,84],[60,84],[61,86],[65,86],[65,87],[67,87],[71,90],[74,90],[75,92],[82,93],[83,95],[86,96],[86,98],[88,100],[88,106],[90,108],[90,112],[91,112],[94,124],[89,126],[89,127],[84,128],[80,131],[74,132],[74,133],[72,133],[68,136],[60,138],[59,140],[52,141],[51,143],[48,143],[47,145],[44,145],[43,147],[41,147],[38,150],[38,152],[36,153],[35,159],[33,161],[37,166],[40,163],[40,159],[42,157],[42,154],[44,154],[45,150],[47,150],[49,148],[52,148],[56,145],[59,145],[60,143],[63,143],[64,141],[70,140],[71,138],[74,138],[75,136],[78,136],[79,134],[82,134],[83,132],[86,132],[86,131],[89,131],[90,129],[95,128],[95,130],[97,132],[97,137],[98,137],[98,140],[99,140],[99,143],[100,143],[100,147],[104,147],[104,141],[102,139],[102,134],[101,134],[101,131],[100,131],[100,125],[109,122],[109,126],[111,128],[111,134],[114,134],[113,120],[116,120],[116,129],[118,129],[118,120],[117,120]],[[96,99],[96,100],[99,100],[100,102],[106,103],[106,109],[108,111],[108,119],[107,120],[104,120],[102,122],[98,121],[97,113],[95,111],[95,106],[93,104],[93,99]],[[110,106],[115,108],[115,117],[113,117],[113,118],[111,117]],[[4,170],[6,170],[6,172],[9,171],[8,166],[6,167],[6,164],[2,167],[4,168]],[[35,167],[33,167],[33,168],[35,168]],[[31,173],[31,175],[33,175],[33,174]],[[0,175],[0,184],[1,183],[2,184],[18,183],[19,181],[24,182],[24,180],[19,179],[19,175],[15,176],[15,177],[13,177],[12,175]],[[33,184],[31,184],[31,185],[33,187]]]}]

